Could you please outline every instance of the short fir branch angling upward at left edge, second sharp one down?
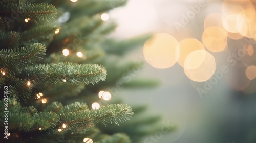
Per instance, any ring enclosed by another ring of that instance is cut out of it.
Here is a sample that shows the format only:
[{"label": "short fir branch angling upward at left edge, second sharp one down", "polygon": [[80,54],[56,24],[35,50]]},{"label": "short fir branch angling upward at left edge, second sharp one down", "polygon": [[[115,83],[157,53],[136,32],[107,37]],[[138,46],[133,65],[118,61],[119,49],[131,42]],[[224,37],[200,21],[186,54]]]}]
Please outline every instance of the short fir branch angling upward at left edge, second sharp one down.
[{"label": "short fir branch angling upward at left edge, second sharp one down", "polygon": [[0,68],[20,67],[45,55],[46,47],[35,43],[27,47],[0,50]]}]

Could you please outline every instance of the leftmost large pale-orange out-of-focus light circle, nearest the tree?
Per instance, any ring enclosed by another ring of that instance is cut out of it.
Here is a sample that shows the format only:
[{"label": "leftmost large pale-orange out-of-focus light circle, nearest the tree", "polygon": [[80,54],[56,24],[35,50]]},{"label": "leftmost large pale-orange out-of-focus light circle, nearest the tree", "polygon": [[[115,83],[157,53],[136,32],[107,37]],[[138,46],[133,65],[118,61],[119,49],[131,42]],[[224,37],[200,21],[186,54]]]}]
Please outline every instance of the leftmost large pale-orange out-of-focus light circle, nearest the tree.
[{"label": "leftmost large pale-orange out-of-focus light circle, nearest the tree", "polygon": [[155,68],[172,67],[179,59],[179,43],[169,34],[160,33],[144,44],[144,57]]}]

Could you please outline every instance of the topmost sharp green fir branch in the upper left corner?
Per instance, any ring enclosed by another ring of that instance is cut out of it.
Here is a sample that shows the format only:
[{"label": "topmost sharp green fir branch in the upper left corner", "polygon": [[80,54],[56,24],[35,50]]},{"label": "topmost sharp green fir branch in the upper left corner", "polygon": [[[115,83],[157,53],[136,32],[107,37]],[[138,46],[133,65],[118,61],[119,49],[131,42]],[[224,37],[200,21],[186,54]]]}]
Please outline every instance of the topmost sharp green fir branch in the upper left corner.
[{"label": "topmost sharp green fir branch in the upper left corner", "polygon": [[0,16],[11,17],[13,13],[19,15],[23,20],[30,18],[31,20],[50,21],[56,18],[57,10],[53,5],[49,4],[30,4],[30,3],[8,3],[3,4],[0,2]]}]

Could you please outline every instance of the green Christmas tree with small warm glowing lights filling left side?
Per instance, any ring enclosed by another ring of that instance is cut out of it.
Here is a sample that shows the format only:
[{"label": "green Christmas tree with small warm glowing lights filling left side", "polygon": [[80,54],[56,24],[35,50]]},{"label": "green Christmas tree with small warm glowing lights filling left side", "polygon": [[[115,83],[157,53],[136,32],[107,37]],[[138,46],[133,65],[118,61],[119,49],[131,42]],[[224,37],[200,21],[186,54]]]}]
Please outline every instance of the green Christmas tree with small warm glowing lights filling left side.
[{"label": "green Christmas tree with small warm glowing lights filling left side", "polygon": [[110,100],[157,84],[118,82],[138,65],[122,56],[150,37],[106,38],[116,24],[104,12],[125,3],[0,2],[1,142],[139,142],[159,130],[159,116],[139,115],[146,106]]}]

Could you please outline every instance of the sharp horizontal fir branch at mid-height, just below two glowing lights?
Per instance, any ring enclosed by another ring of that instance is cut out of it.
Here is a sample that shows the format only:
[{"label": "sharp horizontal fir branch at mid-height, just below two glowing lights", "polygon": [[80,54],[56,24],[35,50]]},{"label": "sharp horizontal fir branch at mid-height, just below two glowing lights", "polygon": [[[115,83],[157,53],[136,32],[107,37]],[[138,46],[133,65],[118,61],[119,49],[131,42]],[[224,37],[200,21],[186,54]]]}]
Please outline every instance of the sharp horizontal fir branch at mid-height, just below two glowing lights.
[{"label": "sharp horizontal fir branch at mid-height, just below two glowing lights", "polygon": [[25,67],[20,69],[19,76],[44,84],[57,84],[63,79],[72,84],[95,84],[105,80],[106,70],[92,64],[52,63]]}]

